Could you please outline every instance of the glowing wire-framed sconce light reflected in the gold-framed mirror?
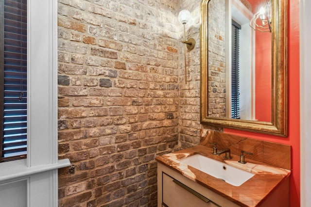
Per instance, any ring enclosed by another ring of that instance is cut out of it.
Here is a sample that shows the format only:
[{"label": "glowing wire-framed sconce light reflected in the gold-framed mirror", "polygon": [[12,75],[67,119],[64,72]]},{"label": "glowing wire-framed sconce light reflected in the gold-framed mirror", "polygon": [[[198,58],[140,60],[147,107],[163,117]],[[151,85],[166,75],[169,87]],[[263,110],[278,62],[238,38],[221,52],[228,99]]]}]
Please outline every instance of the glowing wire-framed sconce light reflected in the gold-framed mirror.
[{"label": "glowing wire-framed sconce light reflected in the gold-framed mirror", "polygon": [[[258,24],[258,21],[261,21]],[[271,1],[268,0],[263,7],[253,16],[249,26],[260,32],[271,32]]]}]

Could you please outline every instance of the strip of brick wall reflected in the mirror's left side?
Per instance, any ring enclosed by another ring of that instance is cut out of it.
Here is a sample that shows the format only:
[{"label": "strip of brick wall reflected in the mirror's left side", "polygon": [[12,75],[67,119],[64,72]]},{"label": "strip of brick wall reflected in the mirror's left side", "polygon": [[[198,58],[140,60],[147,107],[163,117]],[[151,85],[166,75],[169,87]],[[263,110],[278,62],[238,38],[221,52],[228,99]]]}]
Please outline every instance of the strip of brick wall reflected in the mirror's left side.
[{"label": "strip of brick wall reflected in the mirror's left side", "polygon": [[225,117],[225,0],[211,0],[208,13],[208,116]]}]

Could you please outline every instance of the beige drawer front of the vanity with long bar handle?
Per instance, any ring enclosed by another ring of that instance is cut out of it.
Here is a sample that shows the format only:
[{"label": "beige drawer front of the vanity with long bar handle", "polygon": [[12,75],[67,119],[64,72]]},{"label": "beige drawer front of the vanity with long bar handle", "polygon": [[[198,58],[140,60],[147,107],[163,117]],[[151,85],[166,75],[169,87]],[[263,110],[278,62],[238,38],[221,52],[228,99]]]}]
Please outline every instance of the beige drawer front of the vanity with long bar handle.
[{"label": "beige drawer front of the vanity with long bar handle", "polygon": [[158,207],[239,207],[159,162],[157,180]]}]

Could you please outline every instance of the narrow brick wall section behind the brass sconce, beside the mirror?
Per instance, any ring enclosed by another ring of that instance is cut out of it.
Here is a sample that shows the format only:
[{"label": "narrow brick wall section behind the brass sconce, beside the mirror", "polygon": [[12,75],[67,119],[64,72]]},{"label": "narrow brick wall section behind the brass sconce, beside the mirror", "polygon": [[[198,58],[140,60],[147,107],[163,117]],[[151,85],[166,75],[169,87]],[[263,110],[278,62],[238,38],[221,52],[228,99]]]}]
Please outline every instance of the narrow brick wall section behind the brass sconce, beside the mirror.
[{"label": "narrow brick wall section behind the brass sconce, beside the mirror", "polygon": [[[179,45],[179,68],[180,68],[180,132],[179,144],[181,148],[188,148],[200,144],[200,129],[206,128],[215,131],[223,131],[221,127],[200,124],[200,4],[201,0],[183,0],[178,11],[188,9],[191,20],[186,24],[186,36],[195,39],[195,48],[186,50],[187,71],[189,80],[184,81],[184,48]],[[182,33],[182,30],[180,31]],[[182,37],[183,38],[183,37]]]}]

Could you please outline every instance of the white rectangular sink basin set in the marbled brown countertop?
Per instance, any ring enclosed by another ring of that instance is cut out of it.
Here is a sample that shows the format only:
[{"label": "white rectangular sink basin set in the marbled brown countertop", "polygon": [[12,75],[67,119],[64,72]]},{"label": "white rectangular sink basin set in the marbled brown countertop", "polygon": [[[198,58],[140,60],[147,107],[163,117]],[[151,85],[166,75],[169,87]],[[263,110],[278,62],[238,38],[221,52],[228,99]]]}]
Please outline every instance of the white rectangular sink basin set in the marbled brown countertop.
[{"label": "white rectangular sink basin set in the marbled brown countertop", "polygon": [[181,159],[181,163],[190,165],[208,175],[224,180],[233,185],[240,186],[255,174],[227,165],[223,162],[207,158],[203,155],[192,155]]}]

